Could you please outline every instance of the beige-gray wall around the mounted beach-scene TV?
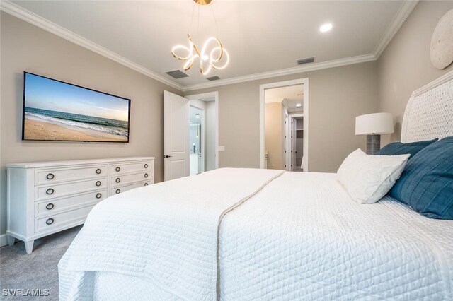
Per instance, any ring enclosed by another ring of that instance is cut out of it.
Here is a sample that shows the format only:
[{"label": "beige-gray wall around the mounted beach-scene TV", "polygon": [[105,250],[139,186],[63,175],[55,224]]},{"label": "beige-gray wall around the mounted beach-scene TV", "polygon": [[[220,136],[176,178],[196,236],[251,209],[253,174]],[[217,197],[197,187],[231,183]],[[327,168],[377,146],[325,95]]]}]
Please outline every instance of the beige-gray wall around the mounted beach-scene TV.
[{"label": "beige-gray wall around the mounted beach-scene TV", "polygon": [[[163,179],[163,91],[180,91],[1,12],[0,233],[6,230],[7,163],[155,156]],[[130,98],[130,143],[21,141],[23,71]]]}]

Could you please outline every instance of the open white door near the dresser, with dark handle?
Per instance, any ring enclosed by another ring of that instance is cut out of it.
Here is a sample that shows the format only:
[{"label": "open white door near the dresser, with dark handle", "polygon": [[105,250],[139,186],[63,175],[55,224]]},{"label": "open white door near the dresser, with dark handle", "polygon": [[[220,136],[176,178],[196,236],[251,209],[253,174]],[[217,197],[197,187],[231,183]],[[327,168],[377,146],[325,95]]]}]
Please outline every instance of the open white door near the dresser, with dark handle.
[{"label": "open white door near the dresser, with dark handle", "polygon": [[164,91],[164,180],[189,175],[189,101]]}]

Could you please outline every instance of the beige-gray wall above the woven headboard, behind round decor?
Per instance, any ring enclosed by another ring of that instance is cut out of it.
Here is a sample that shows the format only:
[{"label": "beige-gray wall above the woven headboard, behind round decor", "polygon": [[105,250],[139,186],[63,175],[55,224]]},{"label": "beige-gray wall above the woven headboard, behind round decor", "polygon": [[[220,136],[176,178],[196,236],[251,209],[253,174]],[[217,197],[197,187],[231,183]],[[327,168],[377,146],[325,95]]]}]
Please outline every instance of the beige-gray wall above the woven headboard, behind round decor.
[{"label": "beige-gray wall above the woven headboard, behind round decor", "polygon": [[453,1],[420,1],[378,59],[379,111],[390,112],[395,133],[382,136],[382,145],[401,138],[401,122],[413,90],[453,70],[435,69],[430,43],[437,22],[453,8]]}]

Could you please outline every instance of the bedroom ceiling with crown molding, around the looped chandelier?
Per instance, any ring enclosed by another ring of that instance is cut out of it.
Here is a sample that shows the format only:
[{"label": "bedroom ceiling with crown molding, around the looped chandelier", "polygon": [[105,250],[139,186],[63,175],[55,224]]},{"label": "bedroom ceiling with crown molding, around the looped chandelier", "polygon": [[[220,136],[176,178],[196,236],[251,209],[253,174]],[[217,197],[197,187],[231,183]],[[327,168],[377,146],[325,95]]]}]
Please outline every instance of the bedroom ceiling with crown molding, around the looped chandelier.
[{"label": "bedroom ceiling with crown molding, around the looped chandelier", "polygon": [[[295,60],[304,57],[316,57],[311,66],[318,69],[374,60],[414,3],[214,0],[212,8],[200,7],[199,31],[198,6],[190,27],[191,0],[2,1],[1,9],[152,78],[190,90],[297,73],[309,66],[297,66]],[[319,26],[326,22],[333,23],[333,29],[320,33]],[[188,78],[165,74],[183,68],[171,48],[188,45],[187,33],[198,47],[210,35],[222,40],[231,57],[229,66],[207,75],[219,76],[220,81],[207,81],[198,62],[187,72]]]}]

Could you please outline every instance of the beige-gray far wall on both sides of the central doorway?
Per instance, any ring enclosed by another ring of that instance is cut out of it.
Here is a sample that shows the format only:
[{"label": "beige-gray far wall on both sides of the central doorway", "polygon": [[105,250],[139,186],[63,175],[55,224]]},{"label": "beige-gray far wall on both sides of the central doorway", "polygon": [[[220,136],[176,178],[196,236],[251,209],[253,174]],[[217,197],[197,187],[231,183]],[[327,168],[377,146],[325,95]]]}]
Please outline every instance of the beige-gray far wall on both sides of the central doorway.
[{"label": "beige-gray far wall on both sides of the central doorway", "polygon": [[336,172],[344,158],[365,149],[355,117],[377,112],[377,62],[266,78],[185,92],[219,91],[219,167],[259,167],[259,88],[309,78],[309,170]]}]

